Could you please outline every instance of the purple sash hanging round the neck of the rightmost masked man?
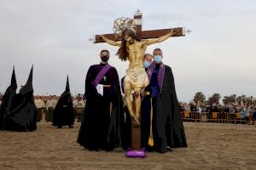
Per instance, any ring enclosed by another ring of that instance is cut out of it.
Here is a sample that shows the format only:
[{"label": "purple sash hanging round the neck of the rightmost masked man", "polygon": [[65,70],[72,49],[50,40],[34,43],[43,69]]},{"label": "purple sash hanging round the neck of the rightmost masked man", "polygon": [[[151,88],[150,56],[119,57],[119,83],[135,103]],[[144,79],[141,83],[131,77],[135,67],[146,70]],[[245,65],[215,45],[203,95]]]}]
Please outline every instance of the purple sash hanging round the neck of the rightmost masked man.
[{"label": "purple sash hanging round the neck of the rightmost masked man", "polygon": [[[148,71],[147,71],[147,74],[148,74],[148,80],[150,82],[151,80],[151,77],[152,77],[152,73],[154,71],[154,68],[155,68],[155,62],[153,62],[149,68],[148,68]],[[163,87],[163,82],[164,82],[164,76],[165,76],[165,65],[163,63],[160,64],[160,71],[159,71],[159,74],[158,74],[158,84],[159,84],[159,87],[160,87],[160,91],[162,90],[162,87]]]}]

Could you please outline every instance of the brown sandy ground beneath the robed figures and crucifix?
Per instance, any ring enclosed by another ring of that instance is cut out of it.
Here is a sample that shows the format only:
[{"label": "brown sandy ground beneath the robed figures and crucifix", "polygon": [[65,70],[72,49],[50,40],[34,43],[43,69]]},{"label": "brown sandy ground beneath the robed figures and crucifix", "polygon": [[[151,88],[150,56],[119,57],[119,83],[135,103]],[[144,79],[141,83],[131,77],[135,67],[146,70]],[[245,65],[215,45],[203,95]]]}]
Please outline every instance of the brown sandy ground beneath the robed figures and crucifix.
[{"label": "brown sandy ground beneath the robed figures and crucifix", "polygon": [[80,123],[30,133],[0,131],[0,169],[256,169],[256,126],[184,122],[189,148],[126,158],[124,150],[89,151],[76,143]]}]

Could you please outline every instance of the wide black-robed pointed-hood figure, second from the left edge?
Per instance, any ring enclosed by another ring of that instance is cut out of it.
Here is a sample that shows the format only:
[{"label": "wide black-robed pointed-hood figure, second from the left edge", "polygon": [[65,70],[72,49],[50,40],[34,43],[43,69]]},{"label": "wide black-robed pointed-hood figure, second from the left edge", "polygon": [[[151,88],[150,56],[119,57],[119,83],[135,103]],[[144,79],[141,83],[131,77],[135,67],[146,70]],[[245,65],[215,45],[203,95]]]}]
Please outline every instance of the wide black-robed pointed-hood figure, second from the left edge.
[{"label": "wide black-robed pointed-hood figure, second from the left edge", "polygon": [[32,87],[33,67],[26,85],[12,100],[9,114],[6,116],[5,128],[13,131],[33,131],[37,129],[38,110],[34,103]]}]

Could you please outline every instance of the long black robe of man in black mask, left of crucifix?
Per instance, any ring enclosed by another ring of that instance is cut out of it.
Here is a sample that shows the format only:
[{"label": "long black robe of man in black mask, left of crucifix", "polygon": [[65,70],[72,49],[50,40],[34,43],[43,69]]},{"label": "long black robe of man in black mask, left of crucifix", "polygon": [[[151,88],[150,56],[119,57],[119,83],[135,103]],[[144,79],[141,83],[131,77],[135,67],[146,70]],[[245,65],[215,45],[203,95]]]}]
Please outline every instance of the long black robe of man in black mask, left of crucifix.
[{"label": "long black robe of man in black mask, left of crucifix", "polygon": [[[96,75],[103,66],[91,65],[85,79],[86,105],[77,142],[89,150],[113,150],[122,146],[124,112],[116,69],[111,66],[99,82],[110,85],[103,88],[103,96],[94,86]],[[113,103],[111,114],[110,102]]]}]

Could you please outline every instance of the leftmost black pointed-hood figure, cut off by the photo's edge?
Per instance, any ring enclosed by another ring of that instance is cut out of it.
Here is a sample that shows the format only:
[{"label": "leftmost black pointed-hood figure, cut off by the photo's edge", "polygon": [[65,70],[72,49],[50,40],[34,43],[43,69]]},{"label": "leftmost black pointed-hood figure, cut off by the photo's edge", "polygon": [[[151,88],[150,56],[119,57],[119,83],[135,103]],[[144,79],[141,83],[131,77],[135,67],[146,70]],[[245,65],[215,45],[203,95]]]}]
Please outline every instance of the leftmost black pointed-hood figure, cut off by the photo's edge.
[{"label": "leftmost black pointed-hood figure, cut off by the photo's edge", "polygon": [[10,111],[12,100],[15,97],[17,90],[17,82],[15,77],[15,67],[13,69],[11,84],[3,94],[2,104],[0,105],[0,130],[5,129],[5,117]]}]

